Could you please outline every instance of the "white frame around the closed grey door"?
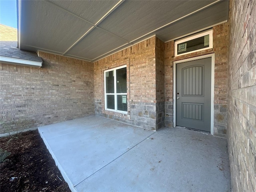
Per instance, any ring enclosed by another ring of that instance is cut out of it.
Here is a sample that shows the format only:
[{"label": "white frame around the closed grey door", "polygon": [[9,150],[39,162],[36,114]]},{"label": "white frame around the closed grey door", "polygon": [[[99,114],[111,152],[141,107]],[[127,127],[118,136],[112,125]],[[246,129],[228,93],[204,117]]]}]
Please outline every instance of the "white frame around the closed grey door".
[{"label": "white frame around the closed grey door", "polygon": [[179,63],[193,61],[203,58],[212,58],[212,68],[211,68],[211,134],[214,132],[214,60],[215,54],[207,54],[198,57],[177,60],[173,62],[173,127],[176,127],[176,65]]}]

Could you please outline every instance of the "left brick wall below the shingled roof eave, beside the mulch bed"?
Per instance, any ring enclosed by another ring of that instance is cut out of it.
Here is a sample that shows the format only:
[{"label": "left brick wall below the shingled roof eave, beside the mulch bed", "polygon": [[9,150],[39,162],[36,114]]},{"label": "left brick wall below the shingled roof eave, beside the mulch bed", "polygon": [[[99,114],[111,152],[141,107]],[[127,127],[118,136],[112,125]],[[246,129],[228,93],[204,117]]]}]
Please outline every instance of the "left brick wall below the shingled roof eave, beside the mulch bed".
[{"label": "left brick wall below the shingled roof eave, beside the mulch bed", "polygon": [[1,133],[94,114],[93,63],[39,56],[42,68],[0,64],[0,120],[9,127]]}]

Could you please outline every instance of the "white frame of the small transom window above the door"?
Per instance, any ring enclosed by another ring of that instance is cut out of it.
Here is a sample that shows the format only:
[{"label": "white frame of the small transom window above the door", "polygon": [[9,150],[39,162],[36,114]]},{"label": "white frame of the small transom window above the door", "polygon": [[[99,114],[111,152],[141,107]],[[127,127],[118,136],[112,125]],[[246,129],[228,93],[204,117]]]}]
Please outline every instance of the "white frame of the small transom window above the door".
[{"label": "white frame of the small transom window above the door", "polygon": [[[182,54],[178,54],[178,50],[177,50],[177,45],[178,44],[189,41],[189,40],[192,40],[192,39],[196,39],[196,38],[199,38],[199,37],[202,37],[202,36],[206,36],[206,35],[209,35],[209,47],[202,48],[202,49],[197,49],[197,50],[182,53]],[[194,52],[198,52],[198,51],[202,51],[202,50],[206,50],[206,49],[211,49],[213,47],[212,46],[212,44],[213,44],[212,38],[213,38],[212,37],[212,29],[210,29],[210,30],[207,30],[207,31],[204,31],[204,32],[201,32],[201,33],[197,33],[197,34],[193,34],[193,35],[190,35],[188,37],[177,40],[177,41],[174,42],[174,56],[178,57],[178,56],[181,56],[181,55],[186,55],[186,54],[190,54],[190,53],[194,53]]]}]

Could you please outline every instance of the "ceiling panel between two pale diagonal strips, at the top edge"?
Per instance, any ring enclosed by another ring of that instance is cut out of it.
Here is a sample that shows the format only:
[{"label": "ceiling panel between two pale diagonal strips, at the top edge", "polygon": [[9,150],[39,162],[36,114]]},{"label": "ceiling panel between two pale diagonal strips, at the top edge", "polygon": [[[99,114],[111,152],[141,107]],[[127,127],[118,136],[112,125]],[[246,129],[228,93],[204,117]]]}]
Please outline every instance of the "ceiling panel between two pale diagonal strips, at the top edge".
[{"label": "ceiling panel between two pale diagonal strips, at the top edge", "polygon": [[[202,1],[206,6],[213,1]],[[129,42],[198,9],[191,1],[125,1],[99,27]],[[115,22],[111,22],[111,21]],[[145,22],[146,21],[146,22]]]}]

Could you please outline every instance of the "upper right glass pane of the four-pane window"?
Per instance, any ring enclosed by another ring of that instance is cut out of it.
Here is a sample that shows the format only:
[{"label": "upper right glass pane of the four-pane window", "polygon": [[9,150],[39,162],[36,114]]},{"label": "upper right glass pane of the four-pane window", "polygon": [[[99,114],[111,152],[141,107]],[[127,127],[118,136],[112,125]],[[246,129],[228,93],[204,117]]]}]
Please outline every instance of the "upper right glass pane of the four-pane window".
[{"label": "upper right glass pane of the four-pane window", "polygon": [[116,70],[116,93],[127,93],[126,67]]}]

